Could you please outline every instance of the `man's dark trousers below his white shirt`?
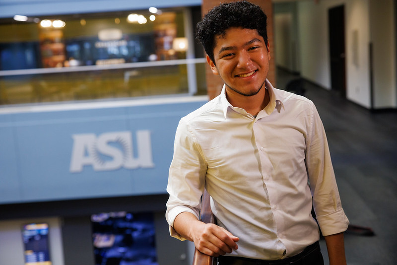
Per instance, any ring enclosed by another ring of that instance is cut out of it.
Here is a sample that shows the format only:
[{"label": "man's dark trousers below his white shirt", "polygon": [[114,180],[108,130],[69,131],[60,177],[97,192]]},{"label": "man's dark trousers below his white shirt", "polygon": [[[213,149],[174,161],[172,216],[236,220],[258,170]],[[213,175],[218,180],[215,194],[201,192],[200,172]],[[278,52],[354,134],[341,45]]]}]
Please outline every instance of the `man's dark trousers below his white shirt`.
[{"label": "man's dark trousers below his white shirt", "polygon": [[303,252],[291,258],[278,261],[263,261],[242,257],[220,256],[218,265],[324,265],[319,242],[307,247]]}]

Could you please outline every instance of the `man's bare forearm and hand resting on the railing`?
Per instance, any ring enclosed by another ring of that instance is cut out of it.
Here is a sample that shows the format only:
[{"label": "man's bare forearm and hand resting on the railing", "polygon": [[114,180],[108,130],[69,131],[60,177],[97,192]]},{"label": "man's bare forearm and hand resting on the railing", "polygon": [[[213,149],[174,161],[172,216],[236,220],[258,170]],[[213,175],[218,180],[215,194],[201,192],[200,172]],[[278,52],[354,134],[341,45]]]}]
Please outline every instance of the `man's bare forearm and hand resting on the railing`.
[{"label": "man's bare forearm and hand resting on the railing", "polygon": [[175,218],[174,229],[184,238],[193,241],[196,248],[208,256],[218,257],[238,249],[238,237],[223,227],[200,222],[190,212],[182,212]]}]

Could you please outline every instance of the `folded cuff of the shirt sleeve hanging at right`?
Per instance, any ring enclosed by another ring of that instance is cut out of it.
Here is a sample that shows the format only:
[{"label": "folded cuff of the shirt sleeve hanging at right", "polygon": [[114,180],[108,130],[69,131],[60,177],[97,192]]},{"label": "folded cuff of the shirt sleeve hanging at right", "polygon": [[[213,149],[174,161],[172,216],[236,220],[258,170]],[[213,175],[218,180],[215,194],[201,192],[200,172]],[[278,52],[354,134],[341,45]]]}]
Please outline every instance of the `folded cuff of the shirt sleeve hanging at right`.
[{"label": "folded cuff of the shirt sleeve hanging at right", "polygon": [[349,225],[349,220],[342,208],[328,215],[317,216],[316,219],[319,222],[323,236],[344,232]]}]

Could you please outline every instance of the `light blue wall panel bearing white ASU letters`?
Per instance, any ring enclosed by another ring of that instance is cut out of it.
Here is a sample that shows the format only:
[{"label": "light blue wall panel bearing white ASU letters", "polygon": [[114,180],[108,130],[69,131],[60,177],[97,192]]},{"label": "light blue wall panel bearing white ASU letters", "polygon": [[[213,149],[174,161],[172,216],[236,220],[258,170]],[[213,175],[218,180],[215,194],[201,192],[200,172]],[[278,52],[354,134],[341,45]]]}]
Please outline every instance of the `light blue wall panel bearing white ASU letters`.
[{"label": "light blue wall panel bearing white ASU letters", "polygon": [[0,114],[0,203],[166,193],[178,122],[205,102]]}]

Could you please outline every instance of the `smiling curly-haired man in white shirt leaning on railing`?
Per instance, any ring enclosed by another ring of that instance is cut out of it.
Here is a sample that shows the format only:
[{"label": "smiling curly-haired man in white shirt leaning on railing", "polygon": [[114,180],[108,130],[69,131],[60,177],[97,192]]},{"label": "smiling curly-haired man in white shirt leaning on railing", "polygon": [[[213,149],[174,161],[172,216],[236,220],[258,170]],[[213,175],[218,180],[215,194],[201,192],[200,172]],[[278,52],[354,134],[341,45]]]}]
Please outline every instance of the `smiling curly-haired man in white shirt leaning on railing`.
[{"label": "smiling curly-haired man in white shirt leaning on railing", "polygon": [[[323,265],[320,226],[330,264],[346,264],[348,220],[324,128],[313,102],[267,81],[265,13],[248,1],[220,4],[199,22],[197,38],[224,87],[178,125],[167,186],[171,235],[219,265]],[[204,188],[216,225],[198,219]]]}]

